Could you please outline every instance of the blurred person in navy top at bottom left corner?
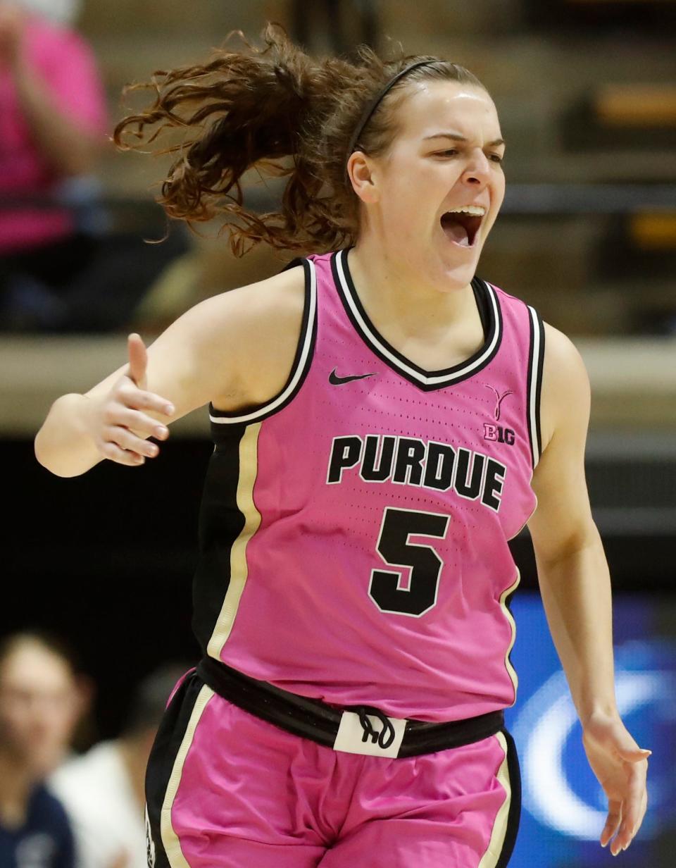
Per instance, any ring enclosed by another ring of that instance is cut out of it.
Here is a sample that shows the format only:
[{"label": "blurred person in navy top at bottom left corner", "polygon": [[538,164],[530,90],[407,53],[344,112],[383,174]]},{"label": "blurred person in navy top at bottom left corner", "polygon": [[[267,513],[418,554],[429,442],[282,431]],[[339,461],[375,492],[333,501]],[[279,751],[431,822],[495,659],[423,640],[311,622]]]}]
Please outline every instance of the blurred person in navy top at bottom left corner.
[{"label": "blurred person in navy top at bottom left corner", "polygon": [[43,780],[61,762],[81,710],[67,650],[22,633],[0,645],[0,865],[72,868],[66,814]]}]

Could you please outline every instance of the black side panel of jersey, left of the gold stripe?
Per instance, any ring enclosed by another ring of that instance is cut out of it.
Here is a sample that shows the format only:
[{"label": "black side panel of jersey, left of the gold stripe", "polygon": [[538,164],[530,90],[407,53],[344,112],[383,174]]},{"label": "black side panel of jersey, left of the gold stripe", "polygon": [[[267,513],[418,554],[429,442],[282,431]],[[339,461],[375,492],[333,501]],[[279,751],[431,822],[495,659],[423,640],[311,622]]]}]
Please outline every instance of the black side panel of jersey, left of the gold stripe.
[{"label": "black side panel of jersey, left of the gold stripe", "polygon": [[230,550],[245,524],[245,516],[237,506],[237,486],[240,441],[246,424],[222,428],[202,494],[200,558],[193,582],[193,632],[204,654],[230,584]]}]

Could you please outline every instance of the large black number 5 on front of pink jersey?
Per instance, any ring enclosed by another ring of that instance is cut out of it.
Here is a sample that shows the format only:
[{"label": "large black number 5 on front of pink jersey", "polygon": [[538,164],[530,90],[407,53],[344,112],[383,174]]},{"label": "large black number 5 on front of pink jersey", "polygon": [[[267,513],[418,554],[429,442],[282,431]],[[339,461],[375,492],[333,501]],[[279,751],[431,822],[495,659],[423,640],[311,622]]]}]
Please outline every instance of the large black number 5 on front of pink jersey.
[{"label": "large black number 5 on front of pink jersey", "polygon": [[369,596],[377,608],[396,615],[419,617],[436,605],[442,559],[430,545],[409,542],[411,536],[444,539],[450,516],[385,507],[377,553],[388,567],[410,567],[409,587],[402,587],[401,570],[374,569]]}]

